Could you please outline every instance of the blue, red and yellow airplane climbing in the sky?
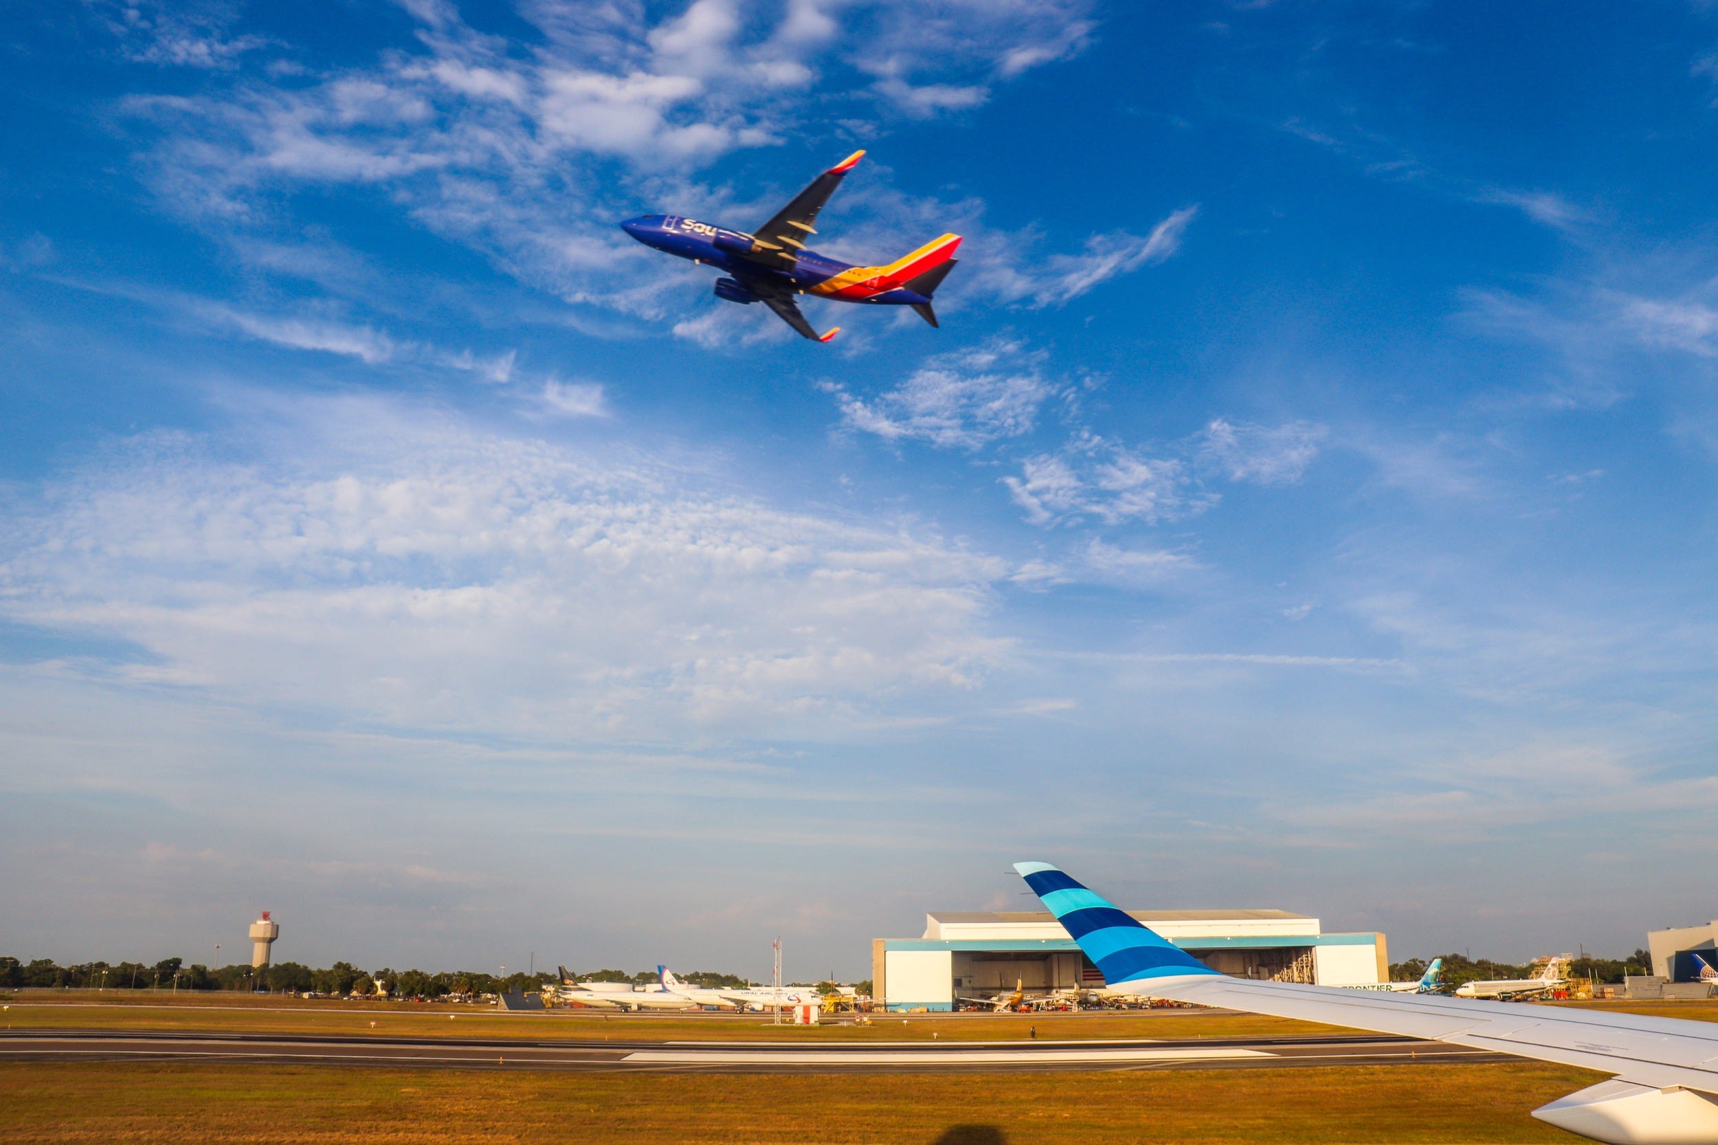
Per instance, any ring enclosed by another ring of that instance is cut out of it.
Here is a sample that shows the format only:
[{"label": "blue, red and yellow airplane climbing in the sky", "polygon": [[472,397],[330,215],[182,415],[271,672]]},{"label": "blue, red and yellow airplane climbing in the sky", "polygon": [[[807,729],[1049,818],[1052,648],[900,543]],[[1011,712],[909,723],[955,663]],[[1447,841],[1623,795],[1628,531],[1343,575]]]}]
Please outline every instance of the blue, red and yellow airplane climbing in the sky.
[{"label": "blue, red and yellow airplane climbing in the sky", "polygon": [[818,211],[861,158],[864,151],[854,151],[813,179],[811,186],[751,234],[684,215],[639,215],[620,223],[620,229],[644,246],[725,272],[725,279],[716,279],[716,297],[746,306],[763,303],[813,342],[828,342],[840,327],[818,334],[799,311],[799,296],[864,306],[911,306],[935,327],[938,323],[931,296],[959,261],[955,248],[960,246],[960,236],[945,234],[885,266],[854,266],[806,246],[818,234],[813,229]]}]

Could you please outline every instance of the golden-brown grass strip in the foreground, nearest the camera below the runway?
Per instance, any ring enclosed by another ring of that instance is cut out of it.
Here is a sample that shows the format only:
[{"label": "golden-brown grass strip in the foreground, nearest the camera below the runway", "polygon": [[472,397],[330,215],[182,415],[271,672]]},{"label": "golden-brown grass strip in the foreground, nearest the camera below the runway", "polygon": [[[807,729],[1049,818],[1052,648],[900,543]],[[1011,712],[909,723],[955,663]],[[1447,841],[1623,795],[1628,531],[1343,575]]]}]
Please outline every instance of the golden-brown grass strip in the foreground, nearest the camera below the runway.
[{"label": "golden-brown grass strip in the foreground, nearest the camera below the runway", "polygon": [[210,1145],[1572,1142],[1527,1111],[1598,1075],[1441,1064],[1026,1075],[539,1075],[0,1064],[0,1140]]}]

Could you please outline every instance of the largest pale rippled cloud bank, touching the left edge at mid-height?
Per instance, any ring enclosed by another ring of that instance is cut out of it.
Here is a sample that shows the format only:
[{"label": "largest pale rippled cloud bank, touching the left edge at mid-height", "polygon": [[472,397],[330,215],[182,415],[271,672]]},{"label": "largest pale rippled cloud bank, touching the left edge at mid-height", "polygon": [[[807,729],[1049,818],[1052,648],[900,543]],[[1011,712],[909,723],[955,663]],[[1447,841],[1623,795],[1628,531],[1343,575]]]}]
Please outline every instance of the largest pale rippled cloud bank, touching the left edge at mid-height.
[{"label": "largest pale rippled cloud bank, touching the left edge at mid-height", "polygon": [[[14,514],[0,614],[141,650],[53,670],[625,741],[816,734],[902,689],[971,688],[1008,648],[984,614],[1010,569],[936,538],[378,401],[258,418],[285,437],[139,438]],[[216,459],[234,445],[256,461]]]}]

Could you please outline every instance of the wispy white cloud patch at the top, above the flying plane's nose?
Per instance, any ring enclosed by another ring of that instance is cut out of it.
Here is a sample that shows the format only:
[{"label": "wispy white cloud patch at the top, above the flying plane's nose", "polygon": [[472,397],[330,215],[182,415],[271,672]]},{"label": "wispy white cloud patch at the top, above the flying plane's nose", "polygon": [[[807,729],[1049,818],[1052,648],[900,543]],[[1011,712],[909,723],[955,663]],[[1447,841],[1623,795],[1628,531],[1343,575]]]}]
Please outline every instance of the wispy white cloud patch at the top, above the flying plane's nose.
[{"label": "wispy white cloud patch at the top, above the flying plane's nose", "polygon": [[[452,5],[407,7],[419,34],[371,65],[127,100],[161,132],[144,155],[163,201],[242,251],[297,186],[378,184],[534,289],[658,318],[685,270],[615,218],[718,210],[730,193],[689,172],[777,144],[828,100],[888,113],[881,84],[911,113],[972,107],[998,79],[1077,52],[1089,28],[1086,0],[792,0],[768,14],[696,0],[655,22],[625,5],[526,2],[543,34],[526,53]],[[825,67],[838,62],[857,72]]]}]

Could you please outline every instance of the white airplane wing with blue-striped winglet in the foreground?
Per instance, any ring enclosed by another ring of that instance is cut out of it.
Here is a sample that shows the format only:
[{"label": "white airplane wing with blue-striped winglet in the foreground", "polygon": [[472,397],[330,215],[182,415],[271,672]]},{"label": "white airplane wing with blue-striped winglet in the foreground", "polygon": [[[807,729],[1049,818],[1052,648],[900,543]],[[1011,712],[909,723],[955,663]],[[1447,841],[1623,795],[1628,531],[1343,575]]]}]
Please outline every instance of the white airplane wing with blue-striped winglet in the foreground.
[{"label": "white airplane wing with blue-striped winglet in the foreground", "polygon": [[1050,863],[1015,863],[1110,989],[1538,1057],[1615,1075],[1532,1111],[1613,1145],[1718,1142],[1718,1023],[1221,975]]}]

